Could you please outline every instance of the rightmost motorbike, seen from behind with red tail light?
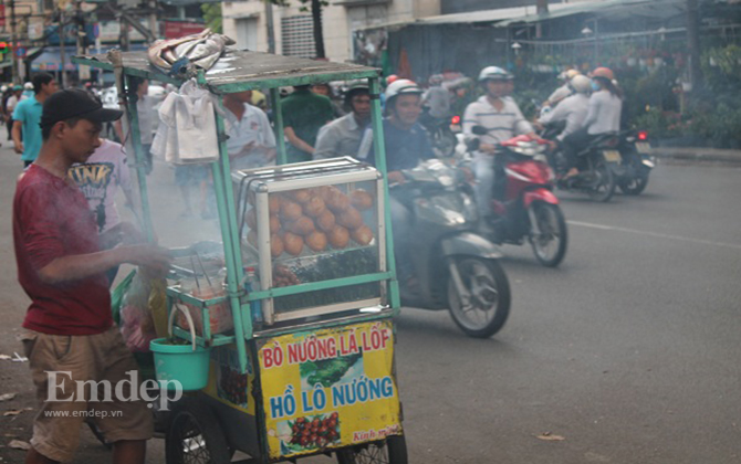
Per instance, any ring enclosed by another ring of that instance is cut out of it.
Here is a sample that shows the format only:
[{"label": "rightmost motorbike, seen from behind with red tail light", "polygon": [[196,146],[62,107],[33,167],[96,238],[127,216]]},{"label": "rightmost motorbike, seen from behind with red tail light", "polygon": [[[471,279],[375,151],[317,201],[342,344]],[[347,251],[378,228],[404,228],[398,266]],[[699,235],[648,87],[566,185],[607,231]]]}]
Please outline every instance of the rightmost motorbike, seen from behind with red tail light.
[{"label": "rightmost motorbike, seen from behind with red tail light", "polygon": [[625,194],[640,194],[648,184],[651,169],[656,166],[656,158],[650,155],[648,133],[629,129],[618,136],[620,164],[614,167],[613,172],[617,187]]}]

